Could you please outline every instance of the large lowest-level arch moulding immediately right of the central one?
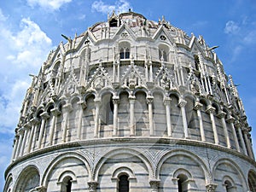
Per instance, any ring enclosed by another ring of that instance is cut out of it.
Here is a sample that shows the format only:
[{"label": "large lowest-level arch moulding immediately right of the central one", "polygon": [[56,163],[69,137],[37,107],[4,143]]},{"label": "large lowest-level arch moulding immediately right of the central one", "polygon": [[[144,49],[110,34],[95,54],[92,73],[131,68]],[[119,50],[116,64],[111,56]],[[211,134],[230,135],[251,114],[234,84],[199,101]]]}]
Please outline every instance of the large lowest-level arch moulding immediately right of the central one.
[{"label": "large lowest-level arch moulding immediately right of the central one", "polygon": [[[201,167],[202,171],[204,172],[204,177],[206,179],[206,182],[208,182],[207,175],[208,175],[209,170],[207,169],[205,162],[203,160],[201,160],[201,158],[199,156],[197,156],[196,154],[194,154],[188,150],[184,150],[184,149],[174,149],[174,150],[168,151],[168,152],[166,152],[166,154],[162,155],[161,159],[157,163],[156,170],[155,170],[155,177],[157,179],[160,179],[161,166],[163,166],[163,164],[165,163],[165,161],[167,159],[169,159],[173,156],[176,156],[176,155],[184,155],[184,156],[187,156],[187,157],[195,160],[195,162]],[[190,174],[190,176],[191,176],[191,174]]]}]

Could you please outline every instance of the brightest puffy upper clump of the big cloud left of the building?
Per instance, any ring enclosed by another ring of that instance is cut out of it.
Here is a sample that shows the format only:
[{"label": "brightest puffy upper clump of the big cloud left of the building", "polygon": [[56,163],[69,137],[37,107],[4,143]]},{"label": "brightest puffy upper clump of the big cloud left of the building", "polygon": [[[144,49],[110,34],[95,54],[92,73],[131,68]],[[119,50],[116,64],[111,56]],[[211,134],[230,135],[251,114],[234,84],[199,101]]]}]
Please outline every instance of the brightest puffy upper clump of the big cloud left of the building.
[{"label": "brightest puffy upper clump of the big cloud left of the building", "polygon": [[8,33],[9,39],[12,40],[10,49],[13,51],[6,55],[6,59],[19,67],[39,67],[42,64],[42,56],[45,57],[52,46],[51,39],[29,18],[20,21],[20,28],[20,32],[15,35],[12,32],[0,34],[4,36],[3,33]]}]

